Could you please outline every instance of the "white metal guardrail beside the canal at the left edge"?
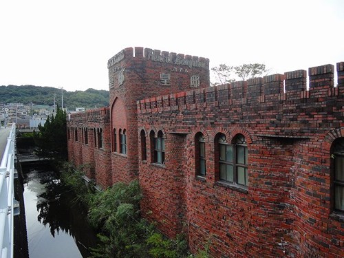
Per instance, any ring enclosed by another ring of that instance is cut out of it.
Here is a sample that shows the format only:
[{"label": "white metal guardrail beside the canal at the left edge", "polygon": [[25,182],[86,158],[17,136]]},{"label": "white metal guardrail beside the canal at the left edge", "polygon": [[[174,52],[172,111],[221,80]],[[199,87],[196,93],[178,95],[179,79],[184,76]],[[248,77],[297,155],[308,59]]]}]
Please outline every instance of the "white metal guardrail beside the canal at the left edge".
[{"label": "white metal guardrail beside the canal at the left edge", "polygon": [[13,257],[13,217],[19,210],[19,202],[14,200],[13,183],[17,175],[14,169],[15,137],[16,127],[13,124],[0,164],[0,258]]}]

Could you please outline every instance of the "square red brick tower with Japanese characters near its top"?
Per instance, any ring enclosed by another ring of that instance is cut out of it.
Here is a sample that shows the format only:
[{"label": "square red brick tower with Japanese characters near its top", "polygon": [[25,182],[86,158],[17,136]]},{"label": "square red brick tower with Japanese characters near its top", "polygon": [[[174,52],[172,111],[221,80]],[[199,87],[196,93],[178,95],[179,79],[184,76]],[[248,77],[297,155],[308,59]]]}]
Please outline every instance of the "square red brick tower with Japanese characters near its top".
[{"label": "square red brick tower with Japanese characters near its top", "polygon": [[[199,76],[200,85],[209,85],[209,62],[206,58],[132,47],[109,59],[109,90],[111,107],[111,142],[113,130],[127,130],[127,155],[119,145],[111,155],[113,182],[129,182],[138,178],[138,114],[136,101],[191,89],[191,76]],[[162,80],[160,74],[169,74]],[[119,140],[117,139],[117,144]]]}]

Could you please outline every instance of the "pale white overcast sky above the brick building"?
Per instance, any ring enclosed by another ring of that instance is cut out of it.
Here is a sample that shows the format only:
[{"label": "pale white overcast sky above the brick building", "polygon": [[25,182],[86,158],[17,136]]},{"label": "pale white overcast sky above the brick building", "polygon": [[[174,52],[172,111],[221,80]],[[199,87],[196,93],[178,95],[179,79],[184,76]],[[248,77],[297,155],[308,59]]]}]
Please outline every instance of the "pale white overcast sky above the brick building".
[{"label": "pale white overcast sky above the brick building", "polygon": [[109,89],[107,61],[149,47],[270,74],[344,61],[343,0],[0,0],[0,85]]}]

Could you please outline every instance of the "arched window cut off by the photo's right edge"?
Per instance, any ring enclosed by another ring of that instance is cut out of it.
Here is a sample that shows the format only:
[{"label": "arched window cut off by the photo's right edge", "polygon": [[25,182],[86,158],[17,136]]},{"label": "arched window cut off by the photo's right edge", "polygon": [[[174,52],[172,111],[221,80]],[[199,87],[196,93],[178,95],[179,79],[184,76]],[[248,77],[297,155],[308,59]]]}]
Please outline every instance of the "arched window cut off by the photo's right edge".
[{"label": "arched window cut off by the photo's right edge", "polygon": [[333,160],[333,207],[344,212],[344,138],[338,138],[332,148]]}]

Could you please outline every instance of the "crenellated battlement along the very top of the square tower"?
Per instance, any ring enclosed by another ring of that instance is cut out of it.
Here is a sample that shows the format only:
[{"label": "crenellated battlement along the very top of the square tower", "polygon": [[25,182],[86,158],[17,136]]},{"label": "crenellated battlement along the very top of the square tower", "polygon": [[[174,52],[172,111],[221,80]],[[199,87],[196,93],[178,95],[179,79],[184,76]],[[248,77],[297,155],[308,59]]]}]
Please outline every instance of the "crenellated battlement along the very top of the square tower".
[{"label": "crenellated battlement along the very top of the square tower", "polygon": [[186,54],[176,54],[175,52],[167,52],[160,50],[152,50],[144,47],[127,47],[121,50],[115,56],[107,61],[107,67],[110,68],[120,61],[132,58],[142,58],[147,61],[166,63],[171,65],[183,65],[189,68],[203,68],[209,69],[209,59],[198,56],[191,56]]}]

